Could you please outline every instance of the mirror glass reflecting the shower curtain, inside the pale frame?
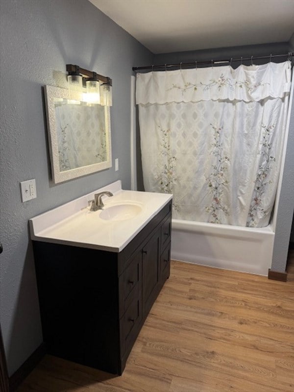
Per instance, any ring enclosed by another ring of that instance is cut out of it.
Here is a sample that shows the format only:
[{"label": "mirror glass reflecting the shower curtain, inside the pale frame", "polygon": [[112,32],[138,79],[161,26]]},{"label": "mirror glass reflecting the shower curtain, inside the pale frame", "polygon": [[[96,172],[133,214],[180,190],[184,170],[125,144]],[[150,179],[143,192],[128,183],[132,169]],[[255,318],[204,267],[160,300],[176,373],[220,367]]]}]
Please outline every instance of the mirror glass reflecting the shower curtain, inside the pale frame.
[{"label": "mirror glass reflecting the shower curtain, inside the pale frame", "polygon": [[60,172],[106,161],[104,106],[56,98],[54,107]]}]

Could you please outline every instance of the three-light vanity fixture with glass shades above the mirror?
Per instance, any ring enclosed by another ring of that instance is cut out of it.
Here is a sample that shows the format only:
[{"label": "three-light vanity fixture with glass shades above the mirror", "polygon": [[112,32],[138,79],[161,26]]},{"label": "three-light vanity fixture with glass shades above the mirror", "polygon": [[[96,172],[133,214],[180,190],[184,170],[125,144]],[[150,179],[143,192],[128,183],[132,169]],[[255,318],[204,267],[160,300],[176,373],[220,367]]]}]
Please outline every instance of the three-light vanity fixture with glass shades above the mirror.
[{"label": "three-light vanity fixture with glass shades above the mirror", "polygon": [[[88,103],[112,106],[112,80],[77,65],[67,64],[70,97]],[[85,87],[84,87],[85,86]]]}]

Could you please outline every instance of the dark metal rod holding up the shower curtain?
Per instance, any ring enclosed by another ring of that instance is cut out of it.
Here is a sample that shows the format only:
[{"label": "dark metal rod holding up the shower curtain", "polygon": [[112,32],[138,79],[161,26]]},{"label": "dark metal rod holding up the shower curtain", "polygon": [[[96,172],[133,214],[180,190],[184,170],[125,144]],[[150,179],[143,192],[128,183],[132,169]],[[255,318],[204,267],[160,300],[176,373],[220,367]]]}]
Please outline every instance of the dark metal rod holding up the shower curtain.
[{"label": "dark metal rod holding up the shower curtain", "polygon": [[204,64],[211,64],[213,65],[218,65],[222,63],[229,63],[231,64],[232,61],[241,61],[241,64],[243,61],[252,61],[253,60],[262,60],[262,59],[272,59],[274,57],[286,57],[288,56],[288,60],[291,59],[294,53],[288,52],[285,54],[270,54],[268,56],[251,56],[251,57],[240,57],[240,58],[230,58],[229,60],[206,60],[206,61],[194,61],[194,62],[189,62],[189,63],[177,63],[177,64],[161,64],[161,65],[148,65],[145,67],[133,67],[133,71],[140,71],[140,70],[159,70],[159,69],[164,69],[167,70],[168,68],[182,68],[182,67],[197,67],[198,65],[204,65]]}]

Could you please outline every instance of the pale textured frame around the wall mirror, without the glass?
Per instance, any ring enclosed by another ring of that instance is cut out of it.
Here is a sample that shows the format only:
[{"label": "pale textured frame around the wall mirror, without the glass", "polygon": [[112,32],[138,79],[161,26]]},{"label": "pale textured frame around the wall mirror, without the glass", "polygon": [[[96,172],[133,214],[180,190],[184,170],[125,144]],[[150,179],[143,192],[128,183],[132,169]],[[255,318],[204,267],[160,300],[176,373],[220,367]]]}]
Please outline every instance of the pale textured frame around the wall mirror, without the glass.
[{"label": "pale textured frame around the wall mirror, without the glass", "polygon": [[[105,113],[105,133],[106,133],[106,156],[107,160],[92,165],[82,166],[75,169],[60,171],[59,167],[59,153],[58,153],[58,139],[56,129],[56,117],[54,98],[70,99],[68,89],[63,89],[54,86],[45,86],[45,101],[47,112],[47,128],[49,138],[49,155],[51,162],[52,179],[55,184],[63,181],[68,181],[73,178],[81,177],[83,175],[99,172],[101,170],[109,169],[112,167],[111,161],[111,132],[110,132],[110,108],[104,106]],[[73,97],[71,97],[73,99]],[[78,99],[78,96],[76,97]]]}]

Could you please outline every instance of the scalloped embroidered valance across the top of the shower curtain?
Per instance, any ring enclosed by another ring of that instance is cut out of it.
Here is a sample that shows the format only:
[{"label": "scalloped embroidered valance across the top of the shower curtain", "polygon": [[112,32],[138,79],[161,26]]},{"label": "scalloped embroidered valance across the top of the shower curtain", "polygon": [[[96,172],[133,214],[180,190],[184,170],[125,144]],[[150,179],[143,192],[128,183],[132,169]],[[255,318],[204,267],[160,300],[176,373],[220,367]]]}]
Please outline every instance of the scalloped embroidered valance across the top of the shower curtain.
[{"label": "scalloped embroidered valance across the top of the shower curtain", "polygon": [[291,62],[137,74],[137,104],[283,98],[291,86]]}]

